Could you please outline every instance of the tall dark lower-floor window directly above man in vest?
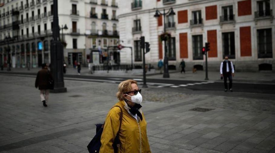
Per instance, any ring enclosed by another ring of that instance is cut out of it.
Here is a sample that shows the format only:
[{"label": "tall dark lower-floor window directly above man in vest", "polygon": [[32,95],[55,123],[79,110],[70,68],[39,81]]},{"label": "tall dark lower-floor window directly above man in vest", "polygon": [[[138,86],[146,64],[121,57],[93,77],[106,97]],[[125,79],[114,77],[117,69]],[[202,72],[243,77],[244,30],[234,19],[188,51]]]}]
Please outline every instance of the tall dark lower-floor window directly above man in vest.
[{"label": "tall dark lower-floor window directly above man in vest", "polygon": [[223,58],[235,58],[235,36],[234,32],[222,33]]}]

